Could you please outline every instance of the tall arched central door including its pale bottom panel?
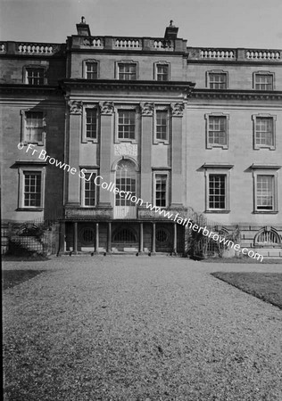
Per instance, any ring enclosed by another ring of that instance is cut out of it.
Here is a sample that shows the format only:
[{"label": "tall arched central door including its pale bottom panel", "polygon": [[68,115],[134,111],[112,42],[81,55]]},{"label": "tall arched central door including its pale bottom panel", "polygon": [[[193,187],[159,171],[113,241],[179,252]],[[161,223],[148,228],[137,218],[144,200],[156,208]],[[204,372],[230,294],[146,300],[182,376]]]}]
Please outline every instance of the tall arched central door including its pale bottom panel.
[{"label": "tall arched central door including its pale bottom panel", "polygon": [[137,206],[130,201],[134,196],[136,200],[137,173],[135,165],[130,160],[120,160],[116,170],[116,187],[123,191],[115,194],[114,218],[136,218]]}]

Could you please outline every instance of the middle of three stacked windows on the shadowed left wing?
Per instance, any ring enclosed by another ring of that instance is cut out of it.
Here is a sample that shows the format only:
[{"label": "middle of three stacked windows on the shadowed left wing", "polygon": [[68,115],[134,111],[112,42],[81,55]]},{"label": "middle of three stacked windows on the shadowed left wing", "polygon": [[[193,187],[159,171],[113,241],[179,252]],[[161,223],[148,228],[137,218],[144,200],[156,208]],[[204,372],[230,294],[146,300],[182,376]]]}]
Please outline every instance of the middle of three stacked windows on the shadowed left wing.
[{"label": "middle of three stacked windows on the shadowed left wing", "polygon": [[24,111],[24,142],[43,143],[45,118],[42,111]]}]

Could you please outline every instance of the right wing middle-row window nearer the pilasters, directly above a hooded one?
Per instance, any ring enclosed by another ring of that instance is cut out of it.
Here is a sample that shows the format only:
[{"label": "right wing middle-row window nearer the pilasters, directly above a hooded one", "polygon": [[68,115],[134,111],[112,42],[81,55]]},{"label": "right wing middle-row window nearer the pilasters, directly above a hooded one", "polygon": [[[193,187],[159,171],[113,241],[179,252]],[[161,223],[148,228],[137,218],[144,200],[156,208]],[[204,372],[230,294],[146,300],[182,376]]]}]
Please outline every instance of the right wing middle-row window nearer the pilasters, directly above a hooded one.
[{"label": "right wing middle-row window nearer the pilasters, directly above a hooded one", "polygon": [[228,116],[205,116],[207,122],[207,148],[228,149]]}]

